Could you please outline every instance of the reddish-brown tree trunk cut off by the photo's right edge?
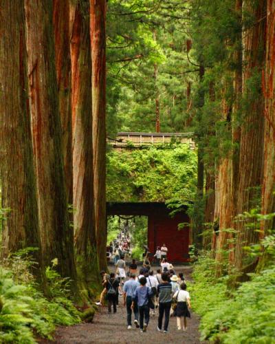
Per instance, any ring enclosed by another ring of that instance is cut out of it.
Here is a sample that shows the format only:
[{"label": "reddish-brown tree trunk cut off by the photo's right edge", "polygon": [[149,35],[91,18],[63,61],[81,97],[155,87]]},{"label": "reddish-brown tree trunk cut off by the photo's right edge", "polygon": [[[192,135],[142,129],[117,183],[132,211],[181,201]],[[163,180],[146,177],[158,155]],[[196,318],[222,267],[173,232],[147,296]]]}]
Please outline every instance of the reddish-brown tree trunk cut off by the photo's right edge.
[{"label": "reddish-brown tree trunk cut off by the photo's right edge", "polygon": [[[265,74],[263,75],[263,94],[265,96],[265,132],[262,213],[267,215],[275,211],[275,3],[267,0],[267,36]],[[274,219],[261,222],[260,238],[267,230],[274,228]],[[264,264],[261,259],[261,264]]]}]

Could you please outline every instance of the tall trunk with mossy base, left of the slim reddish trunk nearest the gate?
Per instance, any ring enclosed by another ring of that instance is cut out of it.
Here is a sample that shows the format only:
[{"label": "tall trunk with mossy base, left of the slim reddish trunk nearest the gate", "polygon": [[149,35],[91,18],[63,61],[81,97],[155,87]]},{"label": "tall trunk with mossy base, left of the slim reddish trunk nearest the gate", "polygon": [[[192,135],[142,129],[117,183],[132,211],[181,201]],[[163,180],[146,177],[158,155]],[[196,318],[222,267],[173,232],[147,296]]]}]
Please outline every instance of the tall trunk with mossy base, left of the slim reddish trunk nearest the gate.
[{"label": "tall trunk with mossy base, left of the slim reddish trunk nearest the gate", "polygon": [[[70,8],[72,56],[72,124],[74,160],[74,235],[80,280],[98,277],[93,223],[93,142],[91,113],[91,44],[89,16],[83,1]],[[89,13],[89,8],[86,8]]]}]

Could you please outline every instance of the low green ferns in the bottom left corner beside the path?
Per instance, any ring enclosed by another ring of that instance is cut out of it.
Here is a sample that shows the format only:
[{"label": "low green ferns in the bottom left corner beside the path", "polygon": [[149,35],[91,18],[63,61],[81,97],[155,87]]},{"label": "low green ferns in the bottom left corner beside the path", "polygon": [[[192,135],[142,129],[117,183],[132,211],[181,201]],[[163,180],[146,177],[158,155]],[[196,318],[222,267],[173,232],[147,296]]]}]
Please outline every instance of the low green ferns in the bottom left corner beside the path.
[{"label": "low green ferns in the bottom left corner beside the path", "polygon": [[[36,343],[34,333],[51,339],[56,325],[80,322],[72,301],[60,296],[62,290],[47,300],[33,283],[17,284],[11,277],[10,270],[0,267],[0,343]],[[54,275],[55,286],[58,278]]]}]

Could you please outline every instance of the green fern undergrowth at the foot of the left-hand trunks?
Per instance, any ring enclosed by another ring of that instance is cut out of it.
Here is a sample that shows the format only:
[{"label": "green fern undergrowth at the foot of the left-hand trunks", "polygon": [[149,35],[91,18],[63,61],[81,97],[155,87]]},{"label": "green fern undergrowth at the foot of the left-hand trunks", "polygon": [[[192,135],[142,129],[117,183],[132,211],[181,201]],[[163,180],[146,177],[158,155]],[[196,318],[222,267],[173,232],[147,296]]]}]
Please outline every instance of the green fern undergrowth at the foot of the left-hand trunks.
[{"label": "green fern undergrowth at the foot of the left-hand trunks", "polygon": [[67,294],[67,279],[47,268],[51,298],[46,299],[28,264],[15,257],[0,266],[0,343],[36,343],[38,337],[52,339],[56,325],[80,323],[80,312]]}]

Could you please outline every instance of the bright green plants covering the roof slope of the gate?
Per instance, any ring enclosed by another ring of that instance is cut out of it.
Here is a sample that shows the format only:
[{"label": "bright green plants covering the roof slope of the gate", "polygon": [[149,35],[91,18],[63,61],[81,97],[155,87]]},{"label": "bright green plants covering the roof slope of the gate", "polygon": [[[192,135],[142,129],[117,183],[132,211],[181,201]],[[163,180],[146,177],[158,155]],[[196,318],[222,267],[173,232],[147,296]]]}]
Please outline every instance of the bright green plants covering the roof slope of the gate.
[{"label": "bright green plants covering the roof slope of the gate", "polygon": [[186,144],[173,149],[112,150],[107,154],[107,200],[192,200],[196,174],[197,154]]}]

